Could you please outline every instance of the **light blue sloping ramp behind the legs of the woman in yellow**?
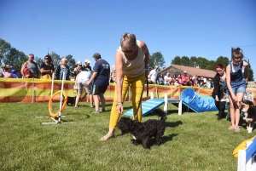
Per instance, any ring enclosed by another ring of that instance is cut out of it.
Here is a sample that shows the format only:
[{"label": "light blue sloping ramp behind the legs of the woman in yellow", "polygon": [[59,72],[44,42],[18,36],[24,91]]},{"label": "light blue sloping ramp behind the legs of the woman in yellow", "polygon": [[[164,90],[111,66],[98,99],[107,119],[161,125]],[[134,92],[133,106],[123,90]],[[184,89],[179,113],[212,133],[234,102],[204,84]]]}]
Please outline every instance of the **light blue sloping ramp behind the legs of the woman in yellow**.
[{"label": "light blue sloping ramp behind the legs of the woman in yellow", "polygon": [[[143,102],[143,116],[148,115],[150,111],[153,111],[154,109],[158,108],[160,105],[163,105],[165,103],[164,99],[150,99]],[[126,116],[133,117],[133,109],[130,111],[125,112]]]}]

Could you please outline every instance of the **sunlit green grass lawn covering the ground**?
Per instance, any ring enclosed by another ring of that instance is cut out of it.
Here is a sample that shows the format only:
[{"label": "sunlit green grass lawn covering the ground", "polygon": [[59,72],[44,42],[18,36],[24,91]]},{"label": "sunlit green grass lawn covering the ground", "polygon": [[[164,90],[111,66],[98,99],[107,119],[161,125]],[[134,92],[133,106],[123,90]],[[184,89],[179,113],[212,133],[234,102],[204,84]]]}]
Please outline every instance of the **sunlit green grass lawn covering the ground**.
[{"label": "sunlit green grass lawn covering the ground", "polygon": [[[72,124],[43,125],[53,122],[48,103],[1,103],[1,170],[236,170],[232,152],[254,134],[228,130],[230,122],[218,121],[216,111],[178,116],[177,107],[169,105],[163,145],[152,140],[151,150],[145,150],[119,129],[115,138],[101,142],[111,105],[101,114],[93,114],[86,102],[76,109],[67,105],[61,121]],[[125,102],[129,109],[131,102]],[[156,118],[151,114],[143,121]]]}]

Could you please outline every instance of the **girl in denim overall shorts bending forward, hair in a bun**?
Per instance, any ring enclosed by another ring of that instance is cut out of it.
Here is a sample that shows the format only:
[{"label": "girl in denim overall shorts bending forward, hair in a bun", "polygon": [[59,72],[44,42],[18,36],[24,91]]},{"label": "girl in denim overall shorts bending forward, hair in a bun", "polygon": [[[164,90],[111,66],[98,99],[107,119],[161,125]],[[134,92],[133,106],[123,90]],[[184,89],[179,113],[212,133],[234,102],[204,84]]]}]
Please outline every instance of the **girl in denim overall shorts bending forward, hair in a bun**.
[{"label": "girl in denim overall shorts bending forward, hair in a bun", "polygon": [[241,48],[232,48],[232,60],[226,68],[226,79],[230,94],[230,130],[240,132],[238,123],[240,121],[240,104],[243,94],[246,92],[248,80],[248,63],[243,61]]}]

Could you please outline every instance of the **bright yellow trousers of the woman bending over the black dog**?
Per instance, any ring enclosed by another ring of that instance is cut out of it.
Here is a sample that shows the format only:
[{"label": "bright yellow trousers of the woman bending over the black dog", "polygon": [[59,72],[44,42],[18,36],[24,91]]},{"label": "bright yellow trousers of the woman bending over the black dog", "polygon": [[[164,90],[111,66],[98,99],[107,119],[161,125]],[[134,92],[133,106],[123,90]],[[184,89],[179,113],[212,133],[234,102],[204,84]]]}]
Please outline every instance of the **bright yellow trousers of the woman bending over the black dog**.
[{"label": "bright yellow trousers of the woman bending over the black dog", "polygon": [[[138,77],[124,76],[123,89],[122,89],[122,101],[125,100],[125,95],[127,94],[128,88],[131,84],[131,89],[132,89],[131,101],[132,101],[132,108],[133,108],[133,119],[135,119],[135,116],[137,115],[137,118],[136,118],[137,122],[142,121],[142,115],[143,115],[142,105],[140,105],[138,112],[137,112],[137,106],[139,105],[139,101],[143,94],[144,83],[145,83],[144,73]],[[117,104],[117,88],[115,88],[114,90],[113,105],[112,105],[111,114],[110,114],[109,128],[116,128],[116,125],[119,121],[120,114],[116,110],[116,104]]]}]

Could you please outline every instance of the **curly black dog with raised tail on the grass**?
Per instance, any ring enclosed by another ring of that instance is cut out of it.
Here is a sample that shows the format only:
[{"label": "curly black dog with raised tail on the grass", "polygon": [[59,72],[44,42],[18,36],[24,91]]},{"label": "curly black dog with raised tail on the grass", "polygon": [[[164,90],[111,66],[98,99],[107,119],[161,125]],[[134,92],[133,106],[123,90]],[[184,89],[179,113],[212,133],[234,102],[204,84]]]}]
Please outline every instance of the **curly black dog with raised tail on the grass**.
[{"label": "curly black dog with raised tail on the grass", "polygon": [[162,136],[166,130],[166,112],[156,109],[154,113],[160,116],[160,120],[150,119],[145,123],[136,123],[129,117],[121,117],[117,126],[122,134],[131,133],[133,135],[133,145],[142,144],[145,149],[150,149],[149,141],[151,138],[155,138],[156,145],[162,144]]}]

